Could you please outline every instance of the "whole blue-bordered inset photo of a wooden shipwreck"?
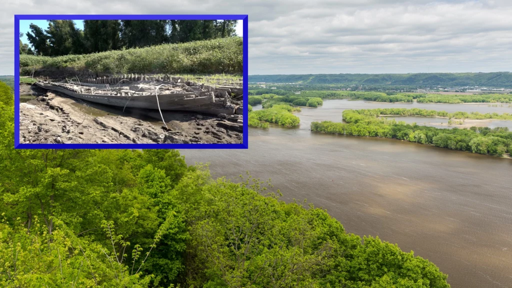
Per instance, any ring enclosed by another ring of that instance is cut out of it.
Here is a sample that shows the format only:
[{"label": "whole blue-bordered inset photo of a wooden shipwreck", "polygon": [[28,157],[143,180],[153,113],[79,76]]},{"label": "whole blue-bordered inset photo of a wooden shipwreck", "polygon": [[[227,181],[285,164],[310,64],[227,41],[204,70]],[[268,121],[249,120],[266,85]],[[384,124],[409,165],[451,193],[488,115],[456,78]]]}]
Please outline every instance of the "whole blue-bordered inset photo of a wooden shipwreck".
[{"label": "whole blue-bordered inset photo of a wooden shipwreck", "polygon": [[15,17],[15,148],[247,148],[247,15]]}]

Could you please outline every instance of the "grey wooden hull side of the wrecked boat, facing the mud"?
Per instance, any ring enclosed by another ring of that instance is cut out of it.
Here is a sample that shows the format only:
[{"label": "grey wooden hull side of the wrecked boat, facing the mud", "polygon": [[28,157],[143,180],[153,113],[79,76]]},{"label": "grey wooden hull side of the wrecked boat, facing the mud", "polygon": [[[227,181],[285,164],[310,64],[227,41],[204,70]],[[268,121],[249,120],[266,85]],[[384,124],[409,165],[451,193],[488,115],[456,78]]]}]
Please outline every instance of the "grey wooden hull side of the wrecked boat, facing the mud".
[{"label": "grey wooden hull side of the wrecked boat, facing the mud", "polygon": [[[224,101],[218,99],[216,101],[215,95],[212,92],[202,92],[200,95],[196,93],[170,93],[170,94],[155,94],[151,95],[108,95],[108,94],[88,94],[88,93],[77,93],[65,88],[57,87],[46,83],[36,83],[37,86],[57,91],[68,96],[95,102],[103,105],[117,106],[117,107],[129,107],[129,108],[140,108],[140,109],[160,109],[171,110],[171,111],[192,111],[206,114],[235,114],[236,108],[233,105],[226,106]],[[93,85],[87,85],[93,86]],[[94,85],[95,87],[105,87],[105,85]],[[83,90],[87,90],[87,87],[83,87]]]}]

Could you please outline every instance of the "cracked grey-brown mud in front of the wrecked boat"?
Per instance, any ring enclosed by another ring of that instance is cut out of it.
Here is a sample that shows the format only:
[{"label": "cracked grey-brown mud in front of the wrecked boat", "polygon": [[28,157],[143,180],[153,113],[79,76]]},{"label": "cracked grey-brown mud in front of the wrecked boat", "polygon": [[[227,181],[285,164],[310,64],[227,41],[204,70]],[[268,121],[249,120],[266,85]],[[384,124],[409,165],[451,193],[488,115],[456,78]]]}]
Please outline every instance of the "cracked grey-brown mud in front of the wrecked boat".
[{"label": "cracked grey-brown mud in front of the wrecked boat", "polygon": [[[46,92],[45,90],[42,90]],[[35,91],[41,93],[41,91]],[[20,104],[20,143],[242,143],[241,115],[116,109],[58,92]],[[23,102],[23,101],[22,101]]]}]

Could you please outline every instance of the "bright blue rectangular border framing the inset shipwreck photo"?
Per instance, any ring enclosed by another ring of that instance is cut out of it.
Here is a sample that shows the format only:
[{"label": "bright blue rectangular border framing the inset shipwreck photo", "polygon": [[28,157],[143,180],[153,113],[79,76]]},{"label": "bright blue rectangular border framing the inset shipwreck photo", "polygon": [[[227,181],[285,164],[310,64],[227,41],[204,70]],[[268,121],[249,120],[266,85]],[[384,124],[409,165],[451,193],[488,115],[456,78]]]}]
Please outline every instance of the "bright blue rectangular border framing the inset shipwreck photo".
[{"label": "bright blue rectangular border framing the inset shipwreck photo", "polygon": [[[19,20],[243,20],[243,142],[227,143],[19,143]],[[14,148],[15,149],[248,149],[248,15],[14,15]]]}]

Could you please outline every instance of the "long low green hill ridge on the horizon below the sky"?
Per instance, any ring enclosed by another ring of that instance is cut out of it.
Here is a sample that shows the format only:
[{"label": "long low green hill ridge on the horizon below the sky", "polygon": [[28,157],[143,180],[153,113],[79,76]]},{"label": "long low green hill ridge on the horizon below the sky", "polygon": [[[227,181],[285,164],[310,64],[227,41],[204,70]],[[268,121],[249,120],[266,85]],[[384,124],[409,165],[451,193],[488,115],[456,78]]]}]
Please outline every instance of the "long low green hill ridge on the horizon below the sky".
[{"label": "long low green hill ridge on the horizon below the sky", "polygon": [[307,74],[249,75],[249,83],[297,83],[332,85],[482,86],[512,88],[511,72],[409,73],[409,74]]}]

